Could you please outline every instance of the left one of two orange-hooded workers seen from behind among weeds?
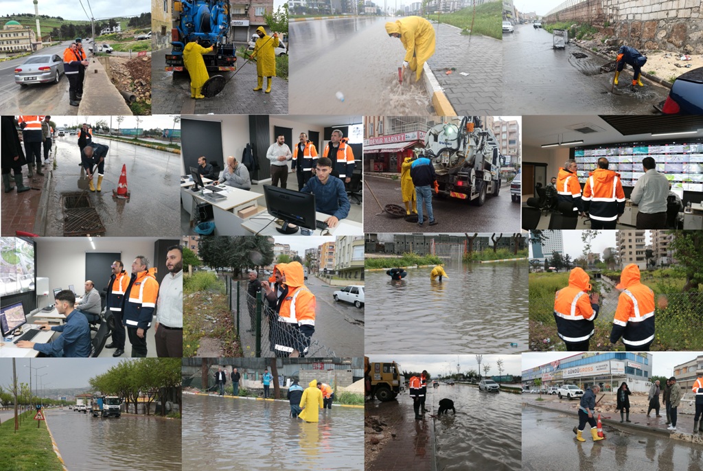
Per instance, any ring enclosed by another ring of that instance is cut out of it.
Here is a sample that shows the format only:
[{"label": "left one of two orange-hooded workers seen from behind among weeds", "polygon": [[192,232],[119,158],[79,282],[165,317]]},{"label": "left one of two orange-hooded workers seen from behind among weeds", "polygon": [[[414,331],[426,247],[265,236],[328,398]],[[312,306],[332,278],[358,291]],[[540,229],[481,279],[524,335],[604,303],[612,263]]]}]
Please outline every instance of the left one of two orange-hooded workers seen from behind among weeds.
[{"label": "left one of two orange-hooded workers seen from behind among weeds", "polygon": [[576,267],[569,274],[569,285],[557,291],[554,297],[557,335],[564,341],[567,351],[588,351],[588,343],[595,333],[593,321],[598,317],[598,293],[589,298],[590,280],[588,273]]}]

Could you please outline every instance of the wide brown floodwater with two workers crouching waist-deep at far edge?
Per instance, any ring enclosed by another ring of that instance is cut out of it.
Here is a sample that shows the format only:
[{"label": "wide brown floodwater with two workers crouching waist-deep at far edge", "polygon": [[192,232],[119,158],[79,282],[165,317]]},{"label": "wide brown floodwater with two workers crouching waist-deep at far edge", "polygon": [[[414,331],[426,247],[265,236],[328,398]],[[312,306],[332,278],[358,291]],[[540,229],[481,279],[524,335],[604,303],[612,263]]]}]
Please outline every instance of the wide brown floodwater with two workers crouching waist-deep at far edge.
[{"label": "wide brown floodwater with two workers crouching waist-deep at far edge", "polygon": [[[366,272],[366,354],[517,353],[527,349],[527,262],[444,265],[449,279],[430,281],[432,268],[408,269],[403,280]],[[517,343],[516,347],[510,347]]]}]

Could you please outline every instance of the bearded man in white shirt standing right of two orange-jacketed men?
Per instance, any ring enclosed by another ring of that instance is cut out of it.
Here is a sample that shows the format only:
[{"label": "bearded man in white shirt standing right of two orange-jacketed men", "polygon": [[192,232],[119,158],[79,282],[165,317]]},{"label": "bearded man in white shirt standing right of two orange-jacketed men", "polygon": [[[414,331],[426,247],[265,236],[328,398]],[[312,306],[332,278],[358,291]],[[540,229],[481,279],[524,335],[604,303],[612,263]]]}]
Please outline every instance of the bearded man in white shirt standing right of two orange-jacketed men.
[{"label": "bearded man in white shirt standing right of two orange-jacketed men", "polygon": [[169,247],[166,254],[169,273],[161,280],[156,302],[154,335],[160,357],[183,356],[183,249]]}]

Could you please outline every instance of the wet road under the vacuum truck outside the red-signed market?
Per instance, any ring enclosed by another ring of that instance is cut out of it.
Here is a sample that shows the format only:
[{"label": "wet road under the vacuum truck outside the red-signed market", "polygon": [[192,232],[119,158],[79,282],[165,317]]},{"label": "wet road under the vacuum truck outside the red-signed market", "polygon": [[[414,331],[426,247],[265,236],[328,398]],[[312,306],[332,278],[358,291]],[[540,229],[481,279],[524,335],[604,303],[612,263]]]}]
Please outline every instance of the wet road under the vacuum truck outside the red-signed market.
[{"label": "wet road under the vacuum truck outside the red-signed market", "polygon": [[[367,175],[366,183],[376,195],[381,205],[395,204],[404,207],[400,192],[400,180],[390,180]],[[477,232],[520,232],[520,205],[512,202],[510,186],[503,182],[498,197],[488,196],[483,206],[472,206],[457,198],[432,198],[432,211],[439,224],[429,226],[425,215],[423,227],[407,222],[403,218],[394,219],[381,214],[368,187],[363,190],[363,227],[366,232],[429,232],[448,233],[466,231]]]}]

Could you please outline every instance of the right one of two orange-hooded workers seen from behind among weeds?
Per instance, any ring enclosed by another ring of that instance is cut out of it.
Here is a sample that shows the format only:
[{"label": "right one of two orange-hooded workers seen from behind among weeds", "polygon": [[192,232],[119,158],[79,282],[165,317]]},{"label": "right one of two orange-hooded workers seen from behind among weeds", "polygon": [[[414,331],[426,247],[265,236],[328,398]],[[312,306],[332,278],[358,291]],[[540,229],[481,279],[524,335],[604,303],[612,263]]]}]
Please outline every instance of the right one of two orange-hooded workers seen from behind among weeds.
[{"label": "right one of two orange-hooded workers seen from behind among weeds", "polygon": [[654,340],[654,292],[640,283],[640,268],[629,264],[620,273],[622,290],[610,332],[610,342],[620,337],[627,351],[649,351]]}]

